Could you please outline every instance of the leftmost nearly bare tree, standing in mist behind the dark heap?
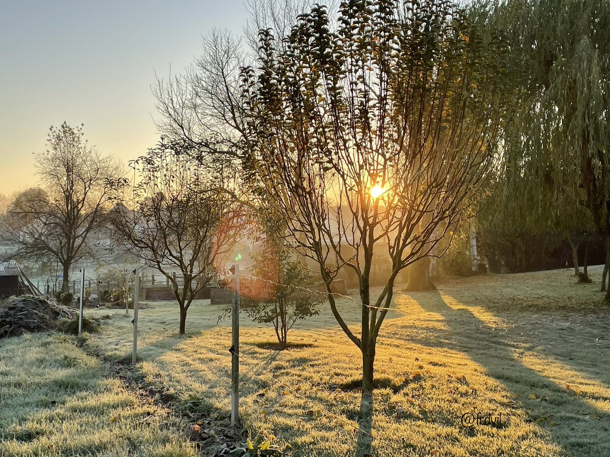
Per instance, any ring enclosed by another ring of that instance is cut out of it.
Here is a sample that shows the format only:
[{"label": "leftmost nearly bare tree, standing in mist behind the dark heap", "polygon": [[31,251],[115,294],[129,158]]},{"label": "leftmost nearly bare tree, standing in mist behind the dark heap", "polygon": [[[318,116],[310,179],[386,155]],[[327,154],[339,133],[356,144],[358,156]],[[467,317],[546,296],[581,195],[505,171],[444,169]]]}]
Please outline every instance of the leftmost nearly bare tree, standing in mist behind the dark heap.
[{"label": "leftmost nearly bare tree, standing in mist behind the dark heap", "polygon": [[4,217],[0,236],[14,247],[10,257],[62,266],[62,291],[74,262],[93,255],[91,235],[104,229],[104,215],[124,185],[120,165],[84,140],[81,126],[51,127],[48,149],[36,154],[41,186],[25,190]]}]

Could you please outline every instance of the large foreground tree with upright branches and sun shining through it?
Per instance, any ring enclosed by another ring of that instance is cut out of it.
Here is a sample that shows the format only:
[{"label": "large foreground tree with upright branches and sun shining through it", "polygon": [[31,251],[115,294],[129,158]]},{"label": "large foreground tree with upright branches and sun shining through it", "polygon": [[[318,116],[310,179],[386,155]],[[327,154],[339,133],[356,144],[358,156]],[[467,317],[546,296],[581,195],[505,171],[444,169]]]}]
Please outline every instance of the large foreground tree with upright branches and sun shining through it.
[{"label": "large foreground tree with upright branches and sun shining through it", "polygon": [[[368,392],[398,273],[454,231],[499,172],[510,49],[450,2],[343,1],[338,13],[315,6],[285,36],[260,32],[258,64],[243,70],[244,163],[318,265]],[[374,295],[378,251],[390,268]],[[333,293],[345,268],[359,282],[359,332]]]}]

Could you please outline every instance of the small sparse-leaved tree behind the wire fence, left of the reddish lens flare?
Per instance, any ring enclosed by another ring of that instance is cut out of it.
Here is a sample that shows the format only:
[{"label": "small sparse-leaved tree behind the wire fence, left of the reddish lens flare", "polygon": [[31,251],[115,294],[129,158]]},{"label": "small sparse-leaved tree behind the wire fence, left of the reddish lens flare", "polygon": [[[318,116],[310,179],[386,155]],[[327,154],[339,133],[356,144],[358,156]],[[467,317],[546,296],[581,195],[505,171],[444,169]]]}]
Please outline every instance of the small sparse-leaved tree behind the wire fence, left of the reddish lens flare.
[{"label": "small sparse-leaved tree behind the wire fence, left of the reddish lens flare", "polygon": [[[185,333],[192,301],[228,260],[245,223],[234,176],[222,160],[204,163],[190,148],[160,143],[133,162],[138,175],[133,211],[117,205],[112,221],[120,242],[171,282]],[[171,272],[178,270],[181,278]]]}]

